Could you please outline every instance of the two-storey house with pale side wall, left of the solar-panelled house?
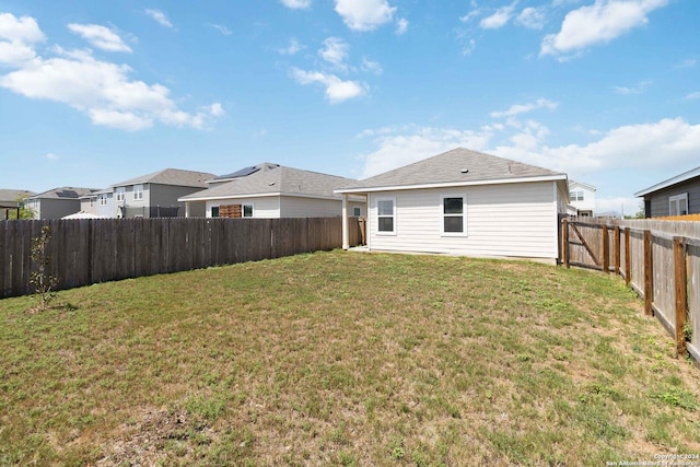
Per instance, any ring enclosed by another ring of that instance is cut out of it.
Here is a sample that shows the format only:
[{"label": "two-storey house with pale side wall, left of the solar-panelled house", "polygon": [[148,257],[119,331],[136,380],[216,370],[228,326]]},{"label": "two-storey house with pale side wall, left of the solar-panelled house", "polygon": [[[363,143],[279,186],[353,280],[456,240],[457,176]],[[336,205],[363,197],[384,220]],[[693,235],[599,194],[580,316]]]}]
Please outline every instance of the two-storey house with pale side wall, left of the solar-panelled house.
[{"label": "two-storey house with pale side wall, left of the solar-panelled house", "polygon": [[113,185],[117,218],[177,218],[185,215],[178,199],[207,187],[214,174],[165,168]]}]

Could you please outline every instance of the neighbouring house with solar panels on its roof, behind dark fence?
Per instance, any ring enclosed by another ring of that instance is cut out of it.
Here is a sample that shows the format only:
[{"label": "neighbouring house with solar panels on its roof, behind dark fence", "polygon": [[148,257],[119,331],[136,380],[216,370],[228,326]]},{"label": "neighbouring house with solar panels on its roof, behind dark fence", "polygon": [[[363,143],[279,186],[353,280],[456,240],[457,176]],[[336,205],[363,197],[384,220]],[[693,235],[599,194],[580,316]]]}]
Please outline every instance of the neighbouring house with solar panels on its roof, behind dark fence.
[{"label": "neighbouring house with solar panels on its roof, behind dark fence", "polygon": [[[350,178],[265,162],[210,180],[206,190],[179,198],[187,217],[328,218],[340,217],[342,197],[334,189]],[[364,215],[364,198],[349,200],[354,215]]]}]

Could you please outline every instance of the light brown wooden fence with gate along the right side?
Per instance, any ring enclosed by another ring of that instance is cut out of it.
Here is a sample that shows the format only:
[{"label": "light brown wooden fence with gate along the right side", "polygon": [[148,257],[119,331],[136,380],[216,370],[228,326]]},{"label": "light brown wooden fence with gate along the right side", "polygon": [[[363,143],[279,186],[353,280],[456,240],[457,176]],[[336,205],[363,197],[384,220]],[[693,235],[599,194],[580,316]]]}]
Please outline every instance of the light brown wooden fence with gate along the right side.
[{"label": "light brown wooden fence with gate along the right side", "polygon": [[564,219],[561,237],[564,266],[622,276],[677,353],[700,362],[700,222]]}]

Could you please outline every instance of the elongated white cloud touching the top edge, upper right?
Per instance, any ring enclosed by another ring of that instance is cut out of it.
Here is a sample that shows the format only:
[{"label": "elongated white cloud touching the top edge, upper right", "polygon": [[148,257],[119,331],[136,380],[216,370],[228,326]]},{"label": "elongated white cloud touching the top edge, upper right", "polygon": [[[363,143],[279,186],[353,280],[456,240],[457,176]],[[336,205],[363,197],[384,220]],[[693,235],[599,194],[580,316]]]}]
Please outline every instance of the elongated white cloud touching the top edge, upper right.
[{"label": "elongated white cloud touching the top edge, upper right", "polygon": [[596,0],[570,11],[561,30],[542,39],[540,56],[562,56],[608,43],[649,22],[646,14],[668,0]]}]

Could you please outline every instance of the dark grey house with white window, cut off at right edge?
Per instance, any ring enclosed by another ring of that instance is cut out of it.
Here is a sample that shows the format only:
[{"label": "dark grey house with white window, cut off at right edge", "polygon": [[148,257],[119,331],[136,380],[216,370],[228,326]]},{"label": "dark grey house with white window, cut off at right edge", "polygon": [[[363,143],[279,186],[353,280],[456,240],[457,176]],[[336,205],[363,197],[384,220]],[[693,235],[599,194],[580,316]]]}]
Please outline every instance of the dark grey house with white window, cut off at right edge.
[{"label": "dark grey house with white window, cut off at right edge", "polygon": [[700,167],[676,175],[634,196],[644,198],[644,217],[700,213]]}]

